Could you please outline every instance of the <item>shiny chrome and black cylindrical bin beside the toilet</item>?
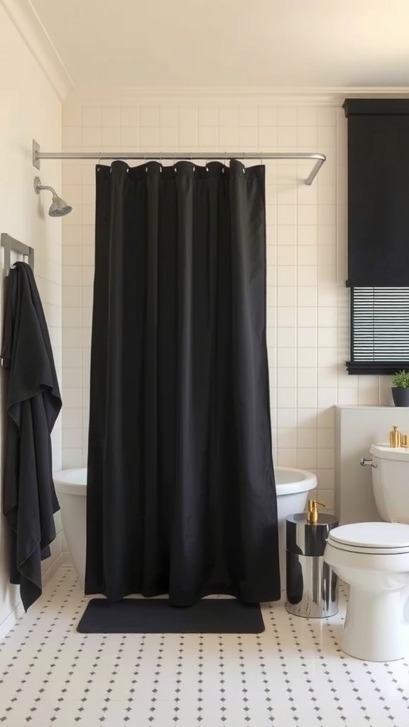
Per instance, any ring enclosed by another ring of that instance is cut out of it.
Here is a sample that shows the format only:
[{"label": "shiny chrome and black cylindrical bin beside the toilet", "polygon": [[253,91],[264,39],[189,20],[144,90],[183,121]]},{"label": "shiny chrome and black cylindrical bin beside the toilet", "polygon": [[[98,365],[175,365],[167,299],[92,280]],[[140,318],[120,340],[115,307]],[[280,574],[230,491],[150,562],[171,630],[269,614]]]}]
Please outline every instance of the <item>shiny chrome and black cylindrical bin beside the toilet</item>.
[{"label": "shiny chrome and black cylindrical bin beside the toilet", "polygon": [[290,614],[322,619],[338,613],[338,577],[323,555],[330,530],[338,526],[333,515],[319,513],[310,523],[306,513],[287,518],[287,601]]}]

